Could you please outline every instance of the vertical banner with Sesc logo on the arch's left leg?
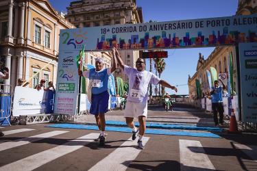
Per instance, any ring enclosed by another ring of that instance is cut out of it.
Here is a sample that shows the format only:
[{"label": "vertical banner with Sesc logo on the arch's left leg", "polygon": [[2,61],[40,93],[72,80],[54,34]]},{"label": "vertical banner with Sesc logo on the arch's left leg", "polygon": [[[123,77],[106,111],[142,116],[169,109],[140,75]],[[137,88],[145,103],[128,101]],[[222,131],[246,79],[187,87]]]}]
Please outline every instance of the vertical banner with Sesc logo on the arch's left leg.
[{"label": "vertical banner with Sesc logo on the arch's left leg", "polygon": [[[60,50],[63,49],[60,44]],[[77,112],[78,81],[76,56],[79,51],[60,51],[56,81],[55,114],[75,115]]]}]

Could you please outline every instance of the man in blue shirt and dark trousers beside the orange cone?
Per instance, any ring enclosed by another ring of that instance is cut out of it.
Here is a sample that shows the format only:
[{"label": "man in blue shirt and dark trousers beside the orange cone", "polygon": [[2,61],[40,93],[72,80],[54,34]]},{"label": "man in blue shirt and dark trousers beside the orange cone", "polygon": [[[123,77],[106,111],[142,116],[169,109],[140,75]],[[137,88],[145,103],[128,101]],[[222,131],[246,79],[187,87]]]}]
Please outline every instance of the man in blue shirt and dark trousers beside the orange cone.
[{"label": "man in blue shirt and dark trousers beside the orange cone", "polygon": [[[221,81],[221,79],[219,79]],[[225,85],[221,81],[222,86],[219,86],[219,81],[214,81],[214,87],[212,87],[212,91],[210,95],[212,96],[212,111],[213,111],[213,119],[215,122],[215,126],[219,124],[223,125],[223,90],[225,90]],[[219,122],[218,122],[218,112],[219,112]]]}]

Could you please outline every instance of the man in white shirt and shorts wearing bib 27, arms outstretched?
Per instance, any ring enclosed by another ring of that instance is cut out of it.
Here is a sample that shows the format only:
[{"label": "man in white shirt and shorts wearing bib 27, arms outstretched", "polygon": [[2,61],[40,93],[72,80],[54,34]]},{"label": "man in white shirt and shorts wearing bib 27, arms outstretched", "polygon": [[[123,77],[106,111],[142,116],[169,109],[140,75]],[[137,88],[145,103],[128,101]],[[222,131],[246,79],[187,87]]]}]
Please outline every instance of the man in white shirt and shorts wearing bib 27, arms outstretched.
[{"label": "man in white shirt and shorts wearing bib 27, arms outstretched", "polygon": [[[145,60],[138,58],[136,60],[136,68],[131,68],[123,64],[121,56],[117,49],[114,49],[114,58],[117,58],[119,66],[124,70],[124,73],[129,78],[129,92],[127,96],[127,104],[124,111],[124,117],[127,126],[132,129],[132,140],[136,140],[139,131],[138,148],[143,149],[142,140],[145,135],[147,118],[147,97],[149,85],[153,83],[155,86],[160,83],[162,86],[171,88],[177,92],[175,86],[171,86],[167,81],[158,78],[153,73],[145,70]],[[139,129],[134,125],[134,118],[138,118]]]}]

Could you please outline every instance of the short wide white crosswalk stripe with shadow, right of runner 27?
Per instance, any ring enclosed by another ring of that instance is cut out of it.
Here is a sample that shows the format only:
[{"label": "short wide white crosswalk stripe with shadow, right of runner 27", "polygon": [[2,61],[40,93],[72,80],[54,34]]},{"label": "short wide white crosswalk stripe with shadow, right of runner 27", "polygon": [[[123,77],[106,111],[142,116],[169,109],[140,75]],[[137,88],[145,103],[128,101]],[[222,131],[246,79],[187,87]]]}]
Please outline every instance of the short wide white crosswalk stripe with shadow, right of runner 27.
[{"label": "short wide white crosswalk stripe with shadow, right of runner 27", "polygon": [[193,168],[215,170],[199,141],[180,140],[180,170]]}]

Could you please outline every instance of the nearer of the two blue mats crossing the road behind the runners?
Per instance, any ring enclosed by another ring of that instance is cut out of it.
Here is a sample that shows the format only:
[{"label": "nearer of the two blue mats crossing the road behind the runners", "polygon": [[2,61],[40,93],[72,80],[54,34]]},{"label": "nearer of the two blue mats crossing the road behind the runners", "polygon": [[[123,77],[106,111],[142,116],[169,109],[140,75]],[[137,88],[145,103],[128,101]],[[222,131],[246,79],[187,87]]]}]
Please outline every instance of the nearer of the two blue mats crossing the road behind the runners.
[{"label": "nearer of the two blue mats crossing the road behind the runners", "polygon": [[[99,130],[95,125],[86,125],[86,124],[50,124],[46,127],[52,128],[62,128],[62,129],[89,129],[89,130]],[[131,129],[128,127],[106,127],[106,131],[115,131],[115,132],[125,132],[131,133]],[[158,135],[178,135],[178,136],[191,136],[191,137],[215,137],[220,138],[219,135],[214,133],[197,133],[197,132],[188,132],[188,131],[171,131],[164,129],[147,129],[145,131],[147,134],[158,134]]]}]

